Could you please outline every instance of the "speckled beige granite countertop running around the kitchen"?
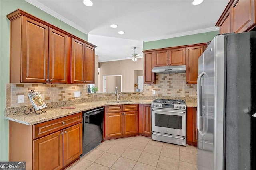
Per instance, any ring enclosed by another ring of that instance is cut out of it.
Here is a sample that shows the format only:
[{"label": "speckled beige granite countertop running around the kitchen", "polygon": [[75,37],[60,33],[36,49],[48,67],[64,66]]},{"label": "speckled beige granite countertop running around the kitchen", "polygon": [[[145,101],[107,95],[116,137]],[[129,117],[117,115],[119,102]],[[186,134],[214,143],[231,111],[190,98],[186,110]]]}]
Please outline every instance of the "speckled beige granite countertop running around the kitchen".
[{"label": "speckled beige granite countertop running around the kitchen", "polygon": [[[25,125],[34,125],[37,123],[42,123],[45,121],[49,121],[52,119],[57,119],[60,117],[64,117],[67,115],[72,115],[75,113],[87,111],[90,109],[95,109],[97,107],[102,106],[108,106],[108,105],[123,105],[123,104],[151,104],[152,100],[138,100],[138,99],[132,99],[132,102],[122,102],[122,103],[107,103],[106,101],[94,101],[94,102],[85,102],[80,104],[74,104],[70,105],[69,107],[76,107],[75,109],[61,109],[61,107],[58,108],[52,108],[47,109],[45,113],[41,112],[40,114],[30,113],[28,115],[25,114],[18,114],[18,115],[5,115],[5,119],[19,122]],[[186,102],[187,107],[197,107],[196,102]]]}]

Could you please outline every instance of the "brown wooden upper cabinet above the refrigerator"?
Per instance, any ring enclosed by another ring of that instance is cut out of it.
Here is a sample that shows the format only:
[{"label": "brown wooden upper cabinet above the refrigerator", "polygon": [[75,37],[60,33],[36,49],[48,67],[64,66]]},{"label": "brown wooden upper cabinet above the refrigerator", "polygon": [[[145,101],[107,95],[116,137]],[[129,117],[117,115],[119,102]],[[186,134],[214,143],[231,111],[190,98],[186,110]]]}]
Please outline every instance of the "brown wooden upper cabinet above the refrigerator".
[{"label": "brown wooden upper cabinet above the refrigerator", "polygon": [[252,30],[256,26],[256,0],[230,0],[216,26],[220,34]]}]

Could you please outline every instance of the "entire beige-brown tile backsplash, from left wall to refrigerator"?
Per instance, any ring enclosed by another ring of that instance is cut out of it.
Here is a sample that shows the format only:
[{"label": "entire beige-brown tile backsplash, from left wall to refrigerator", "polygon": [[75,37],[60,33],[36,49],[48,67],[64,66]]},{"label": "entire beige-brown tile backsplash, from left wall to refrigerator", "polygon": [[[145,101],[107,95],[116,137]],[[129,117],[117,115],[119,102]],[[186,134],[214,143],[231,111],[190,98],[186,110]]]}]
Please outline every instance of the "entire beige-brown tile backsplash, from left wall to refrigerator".
[{"label": "entire beige-brown tile backsplash, from left wall to refrigerator", "polygon": [[[28,92],[31,90],[40,92],[44,94],[44,102],[60,102],[66,100],[74,99],[84,99],[96,98],[115,98],[114,93],[87,93],[86,84],[6,84],[6,108],[17,107],[17,106],[27,106],[31,105],[28,98]],[[152,95],[152,90],[156,90],[156,94]],[[74,92],[80,91],[81,96],[74,98]],[[24,95],[24,103],[18,103],[18,95]],[[186,74],[176,73],[176,74],[156,74],[156,84],[144,84],[143,93],[122,93],[120,100],[127,99],[129,97],[137,98],[139,96],[144,96],[147,98],[156,97],[182,97],[182,98],[196,98],[197,97],[197,85],[196,84],[186,84]]]}]

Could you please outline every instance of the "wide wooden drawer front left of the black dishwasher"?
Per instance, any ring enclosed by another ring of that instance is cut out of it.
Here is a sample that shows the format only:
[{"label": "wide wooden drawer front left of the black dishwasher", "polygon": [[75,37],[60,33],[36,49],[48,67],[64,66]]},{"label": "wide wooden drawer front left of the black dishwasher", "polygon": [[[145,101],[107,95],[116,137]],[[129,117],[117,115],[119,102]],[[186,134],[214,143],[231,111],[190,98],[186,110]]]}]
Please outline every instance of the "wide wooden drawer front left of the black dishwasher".
[{"label": "wide wooden drawer front left of the black dishwasher", "polygon": [[74,115],[68,115],[58,119],[46,121],[33,125],[34,135],[33,139],[48,135],[60,129],[75,125],[76,123],[82,122],[82,113],[76,113]]}]

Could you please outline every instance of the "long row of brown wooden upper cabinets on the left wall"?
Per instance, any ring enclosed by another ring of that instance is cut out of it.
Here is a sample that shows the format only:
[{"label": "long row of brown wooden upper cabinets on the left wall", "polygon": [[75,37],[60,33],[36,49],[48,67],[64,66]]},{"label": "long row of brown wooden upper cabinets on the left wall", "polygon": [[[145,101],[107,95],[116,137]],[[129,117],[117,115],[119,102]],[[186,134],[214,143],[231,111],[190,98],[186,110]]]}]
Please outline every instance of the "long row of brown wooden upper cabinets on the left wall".
[{"label": "long row of brown wooden upper cabinets on the left wall", "polygon": [[85,78],[81,83],[94,83],[96,46],[19,9],[7,18],[10,20],[10,83],[70,83],[71,37],[84,44],[84,67],[79,74]]}]

